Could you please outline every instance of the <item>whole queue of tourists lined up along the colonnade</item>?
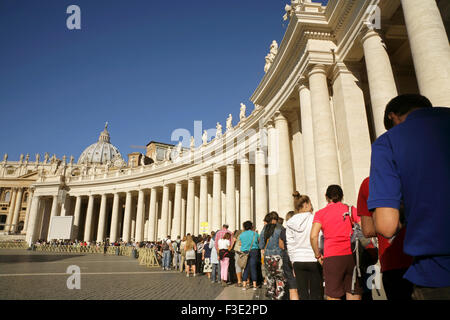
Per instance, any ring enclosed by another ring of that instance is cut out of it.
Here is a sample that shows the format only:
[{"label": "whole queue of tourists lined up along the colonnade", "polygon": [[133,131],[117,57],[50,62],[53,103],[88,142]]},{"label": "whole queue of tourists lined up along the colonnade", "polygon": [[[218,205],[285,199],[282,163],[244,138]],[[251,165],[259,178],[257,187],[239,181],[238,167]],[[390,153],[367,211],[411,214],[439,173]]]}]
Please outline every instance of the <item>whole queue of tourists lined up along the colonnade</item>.
[{"label": "whole queue of tourists lined up along the colonnade", "polygon": [[260,231],[245,221],[240,230],[225,223],[208,235],[111,245],[154,248],[163,270],[264,287],[274,300],[371,299],[376,264],[389,300],[449,299],[450,109],[402,95],[387,105],[384,124],[357,207],[330,185],[325,207],[315,211],[295,192],[294,211],[267,213]]}]

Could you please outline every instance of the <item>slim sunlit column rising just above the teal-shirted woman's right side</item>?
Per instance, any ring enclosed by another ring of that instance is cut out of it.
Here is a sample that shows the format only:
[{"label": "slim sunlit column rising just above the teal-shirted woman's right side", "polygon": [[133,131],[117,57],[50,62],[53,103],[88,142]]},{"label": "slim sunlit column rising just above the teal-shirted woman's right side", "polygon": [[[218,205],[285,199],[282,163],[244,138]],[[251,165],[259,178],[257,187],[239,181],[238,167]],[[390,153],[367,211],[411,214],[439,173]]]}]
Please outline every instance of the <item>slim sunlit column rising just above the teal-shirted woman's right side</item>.
[{"label": "slim sunlit column rising just above the teal-shirted woman's right side", "polygon": [[268,213],[266,161],[264,151],[256,150],[255,158],[255,211],[256,229],[261,232],[264,227],[264,217]]}]

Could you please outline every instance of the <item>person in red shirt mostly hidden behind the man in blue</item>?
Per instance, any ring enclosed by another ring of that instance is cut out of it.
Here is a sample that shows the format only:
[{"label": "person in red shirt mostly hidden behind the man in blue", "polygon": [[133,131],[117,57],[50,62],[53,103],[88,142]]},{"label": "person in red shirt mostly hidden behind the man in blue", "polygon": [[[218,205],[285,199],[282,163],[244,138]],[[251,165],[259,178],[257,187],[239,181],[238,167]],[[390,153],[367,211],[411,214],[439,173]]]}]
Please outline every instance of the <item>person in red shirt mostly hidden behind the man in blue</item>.
[{"label": "person in red shirt mostly hidden behind the man in blue", "polygon": [[361,217],[361,227],[364,236],[378,238],[378,255],[383,274],[383,286],[388,300],[410,300],[413,285],[403,275],[412,263],[412,257],[403,253],[403,240],[406,227],[391,239],[377,234],[372,219],[372,212],[367,207],[369,198],[369,178],[366,178],[359,189],[358,216]]}]

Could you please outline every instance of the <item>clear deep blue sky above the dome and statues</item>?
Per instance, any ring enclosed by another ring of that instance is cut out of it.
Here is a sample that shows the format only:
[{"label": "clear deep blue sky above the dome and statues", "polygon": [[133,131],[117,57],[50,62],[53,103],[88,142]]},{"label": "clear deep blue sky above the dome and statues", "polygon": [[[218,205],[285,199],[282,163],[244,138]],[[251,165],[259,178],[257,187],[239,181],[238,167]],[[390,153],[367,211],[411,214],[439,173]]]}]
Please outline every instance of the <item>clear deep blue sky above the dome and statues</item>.
[{"label": "clear deep blue sky above the dome and statues", "polygon": [[[0,156],[78,159],[106,121],[122,155],[225,127],[281,42],[287,0],[1,0]],[[68,30],[66,8],[81,8]],[[236,121],[234,121],[236,123]]]}]

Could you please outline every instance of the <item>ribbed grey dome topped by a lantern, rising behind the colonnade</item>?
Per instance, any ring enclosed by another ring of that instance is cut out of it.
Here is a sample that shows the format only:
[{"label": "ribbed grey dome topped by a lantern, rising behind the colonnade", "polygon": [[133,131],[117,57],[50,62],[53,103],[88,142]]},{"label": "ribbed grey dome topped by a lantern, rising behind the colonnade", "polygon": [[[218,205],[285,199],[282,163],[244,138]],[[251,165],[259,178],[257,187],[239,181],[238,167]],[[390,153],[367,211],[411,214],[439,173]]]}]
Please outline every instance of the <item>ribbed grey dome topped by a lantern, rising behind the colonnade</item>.
[{"label": "ribbed grey dome topped by a lantern, rising behind the colonnade", "polygon": [[113,146],[110,142],[108,132],[108,123],[105,125],[105,130],[100,133],[98,142],[87,147],[80,158],[78,164],[107,164],[110,163],[116,167],[122,167],[124,160],[120,155],[119,149]]}]

